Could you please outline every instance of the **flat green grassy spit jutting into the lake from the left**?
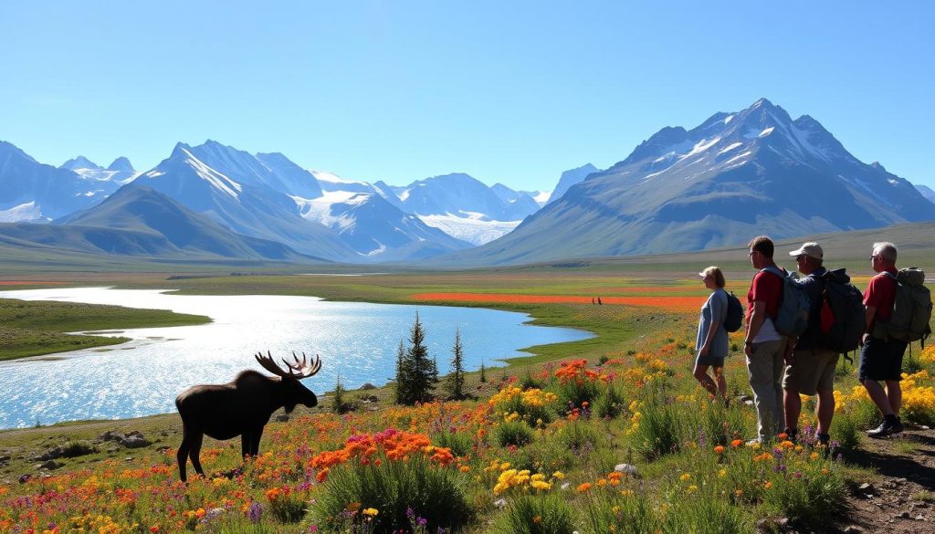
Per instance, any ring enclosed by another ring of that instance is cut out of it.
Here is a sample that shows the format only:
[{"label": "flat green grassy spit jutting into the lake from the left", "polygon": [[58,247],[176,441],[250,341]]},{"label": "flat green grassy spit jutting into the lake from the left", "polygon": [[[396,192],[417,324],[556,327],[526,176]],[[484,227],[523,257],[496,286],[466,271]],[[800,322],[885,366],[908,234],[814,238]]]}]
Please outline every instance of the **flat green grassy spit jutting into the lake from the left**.
[{"label": "flat green grassy spit jutting into the lake from the left", "polygon": [[128,338],[67,334],[113,328],[203,325],[203,315],[122,306],[0,298],[0,360],[113,345]]}]

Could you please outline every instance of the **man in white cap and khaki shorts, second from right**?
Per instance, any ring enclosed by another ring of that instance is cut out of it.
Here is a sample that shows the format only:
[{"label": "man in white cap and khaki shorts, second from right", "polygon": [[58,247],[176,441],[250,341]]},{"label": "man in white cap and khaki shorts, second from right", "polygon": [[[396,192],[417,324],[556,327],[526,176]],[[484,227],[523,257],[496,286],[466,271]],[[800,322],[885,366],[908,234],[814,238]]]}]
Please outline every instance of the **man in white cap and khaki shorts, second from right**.
[{"label": "man in white cap and khaki shorts, second from right", "polygon": [[783,397],[785,408],[784,433],[795,442],[798,437],[798,414],[802,411],[799,396],[818,396],[818,431],[815,439],[827,445],[830,441],[828,429],[834,415],[834,368],[838,365],[838,353],[825,346],[821,330],[821,312],[824,303],[826,281],[822,278],[827,273],[823,267],[825,253],[821,245],[815,242],[802,244],[789,253],[796,257],[798,272],[805,275],[800,283],[809,297],[809,320],[805,332],[786,348],[783,378]]}]

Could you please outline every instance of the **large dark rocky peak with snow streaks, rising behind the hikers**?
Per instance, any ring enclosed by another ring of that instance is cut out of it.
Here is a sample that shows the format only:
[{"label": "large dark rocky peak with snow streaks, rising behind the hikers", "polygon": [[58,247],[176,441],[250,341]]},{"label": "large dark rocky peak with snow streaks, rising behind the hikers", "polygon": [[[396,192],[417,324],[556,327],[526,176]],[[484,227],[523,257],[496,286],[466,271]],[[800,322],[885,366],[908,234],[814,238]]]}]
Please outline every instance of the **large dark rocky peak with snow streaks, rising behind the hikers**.
[{"label": "large dark rocky peak with snow streaks, rising behind the hikers", "polygon": [[808,115],[763,98],[691,130],[666,127],[482,247],[443,263],[500,265],[697,251],[935,219],[935,205],[864,164]]}]

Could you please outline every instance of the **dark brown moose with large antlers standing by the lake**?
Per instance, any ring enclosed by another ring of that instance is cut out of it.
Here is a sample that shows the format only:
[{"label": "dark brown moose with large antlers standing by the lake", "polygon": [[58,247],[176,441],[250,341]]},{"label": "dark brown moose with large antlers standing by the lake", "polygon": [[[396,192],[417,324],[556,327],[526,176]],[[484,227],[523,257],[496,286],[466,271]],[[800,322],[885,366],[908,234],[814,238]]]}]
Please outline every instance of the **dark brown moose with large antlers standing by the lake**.
[{"label": "dark brown moose with large antlers standing by the lake", "polygon": [[260,450],[263,427],[274,411],[285,407],[286,413],[303,404],[309,408],[318,404],[318,397],[299,380],[308,378],[322,368],[315,355],[309,363],[305,353],[302,359],[293,353],[295,363],[282,358],[281,368],[273,355],[257,353],[256,361],[278,378],[267,377],[252,369],[240,371],[233,382],[194,385],[176,397],[182,423],[181,445],[176,458],[179,475],[186,481],[186,457],[191,458],[195,472],[204,476],[199,455],[205,434],[215,440],[230,440],[240,436],[240,453],[256,456]]}]

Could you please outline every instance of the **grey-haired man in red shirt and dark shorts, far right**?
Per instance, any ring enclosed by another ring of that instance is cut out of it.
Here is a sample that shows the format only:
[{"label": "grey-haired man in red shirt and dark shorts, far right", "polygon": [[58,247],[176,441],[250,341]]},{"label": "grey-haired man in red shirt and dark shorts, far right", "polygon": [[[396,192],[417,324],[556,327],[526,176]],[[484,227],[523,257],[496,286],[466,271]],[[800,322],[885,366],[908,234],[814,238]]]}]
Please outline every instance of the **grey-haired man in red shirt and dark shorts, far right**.
[{"label": "grey-haired man in red shirt and dark shorts, far right", "polygon": [[[870,266],[877,275],[870,279],[864,293],[867,315],[857,378],[883,413],[883,423],[868,431],[867,435],[883,438],[903,430],[899,420],[899,406],[902,404],[899,381],[902,380],[902,355],[906,352],[907,343],[891,339],[885,331],[885,323],[892,317],[896,303],[896,246],[888,242],[873,243]],[[885,382],[885,388],[880,385],[881,381]]]}]

